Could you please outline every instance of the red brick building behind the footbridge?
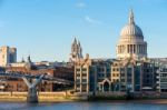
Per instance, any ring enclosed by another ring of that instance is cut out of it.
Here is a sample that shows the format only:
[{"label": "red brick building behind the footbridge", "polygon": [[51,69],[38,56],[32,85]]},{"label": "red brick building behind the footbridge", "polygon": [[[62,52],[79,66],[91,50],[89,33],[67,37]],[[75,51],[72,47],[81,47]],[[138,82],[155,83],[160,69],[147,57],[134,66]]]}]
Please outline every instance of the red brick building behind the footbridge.
[{"label": "red brick building behind the footbridge", "polygon": [[[30,73],[30,74],[39,74],[39,73],[49,73],[50,76],[55,78],[60,78],[69,81],[73,81],[73,68],[69,67],[57,67],[52,69],[38,69],[37,67],[8,67],[6,68],[6,71],[8,72],[19,72],[19,73]],[[22,79],[16,79],[16,78],[6,78],[7,81],[0,82],[0,86],[3,86],[3,91],[27,91],[28,87],[23,82]],[[69,86],[72,88],[72,84]],[[49,81],[42,81],[37,90],[38,91],[57,91],[57,90],[63,90],[65,88],[68,88],[62,84],[57,84]]]}]

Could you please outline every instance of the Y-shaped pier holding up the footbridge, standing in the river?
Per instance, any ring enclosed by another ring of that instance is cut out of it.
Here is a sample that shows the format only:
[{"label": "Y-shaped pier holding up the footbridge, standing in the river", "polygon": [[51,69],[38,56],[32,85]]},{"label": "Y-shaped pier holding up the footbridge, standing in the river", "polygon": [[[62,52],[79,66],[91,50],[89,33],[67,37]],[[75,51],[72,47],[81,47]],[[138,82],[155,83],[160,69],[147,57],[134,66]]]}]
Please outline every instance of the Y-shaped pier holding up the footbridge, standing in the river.
[{"label": "Y-shaped pier holding up the footbridge, standing in the river", "polygon": [[38,79],[30,82],[26,77],[23,77],[23,81],[28,86],[28,94],[27,94],[27,102],[28,103],[38,103],[38,94],[37,94],[37,86],[41,82],[45,74],[41,74]]}]

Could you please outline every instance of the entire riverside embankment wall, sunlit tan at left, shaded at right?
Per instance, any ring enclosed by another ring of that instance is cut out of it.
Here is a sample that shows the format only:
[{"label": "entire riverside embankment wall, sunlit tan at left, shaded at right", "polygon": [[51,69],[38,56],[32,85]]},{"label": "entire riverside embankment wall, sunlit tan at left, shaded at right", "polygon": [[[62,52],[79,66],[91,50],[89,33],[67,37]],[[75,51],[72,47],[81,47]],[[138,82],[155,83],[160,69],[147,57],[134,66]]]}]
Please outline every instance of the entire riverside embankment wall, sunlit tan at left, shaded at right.
[{"label": "entire riverside embankment wall, sunlit tan at left, shaded at right", "polygon": [[[27,92],[0,92],[0,101],[26,102]],[[134,93],[134,99],[167,99],[167,93],[144,92]],[[126,100],[125,92],[96,92],[96,93],[71,93],[61,92],[38,92],[39,102],[65,102],[87,100]]]}]

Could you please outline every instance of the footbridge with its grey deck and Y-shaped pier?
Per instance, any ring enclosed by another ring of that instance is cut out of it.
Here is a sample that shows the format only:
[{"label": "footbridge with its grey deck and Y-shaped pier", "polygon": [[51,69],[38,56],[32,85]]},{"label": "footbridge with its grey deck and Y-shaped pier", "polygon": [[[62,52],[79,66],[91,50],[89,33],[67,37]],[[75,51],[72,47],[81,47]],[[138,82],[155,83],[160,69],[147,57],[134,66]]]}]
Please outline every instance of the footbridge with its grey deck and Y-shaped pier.
[{"label": "footbridge with its grey deck and Y-shaped pier", "polygon": [[[39,73],[39,74],[30,74],[30,73],[20,73],[20,72],[0,72],[0,77],[6,78],[18,78],[22,79],[24,83],[28,86],[28,96],[27,102],[36,103],[38,102],[38,94],[37,94],[37,86],[42,81],[51,81],[53,83],[62,83],[62,84],[70,84],[71,81],[55,78],[49,73]],[[33,80],[32,80],[33,79]]]}]

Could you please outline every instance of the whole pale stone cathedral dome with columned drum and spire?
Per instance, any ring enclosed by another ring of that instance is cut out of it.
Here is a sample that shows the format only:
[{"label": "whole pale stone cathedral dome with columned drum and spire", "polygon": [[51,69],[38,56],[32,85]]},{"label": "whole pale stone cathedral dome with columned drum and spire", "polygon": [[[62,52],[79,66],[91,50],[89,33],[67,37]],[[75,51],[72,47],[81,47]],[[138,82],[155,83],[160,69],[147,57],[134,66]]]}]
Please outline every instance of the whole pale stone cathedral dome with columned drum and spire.
[{"label": "whole pale stone cathedral dome with columned drum and spire", "polygon": [[121,29],[116,51],[118,59],[147,58],[147,42],[144,40],[141,29],[135,23],[132,10],[130,10],[128,23]]}]

